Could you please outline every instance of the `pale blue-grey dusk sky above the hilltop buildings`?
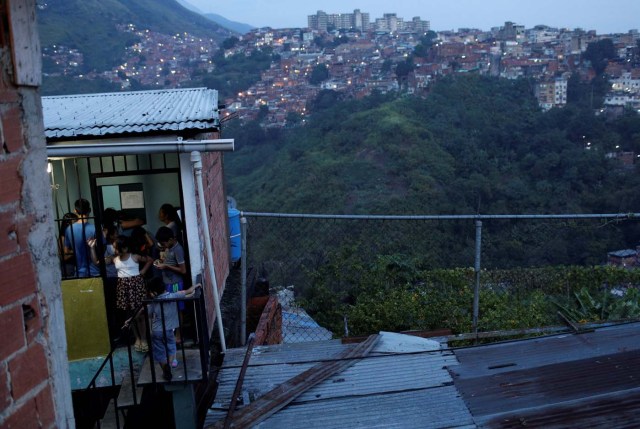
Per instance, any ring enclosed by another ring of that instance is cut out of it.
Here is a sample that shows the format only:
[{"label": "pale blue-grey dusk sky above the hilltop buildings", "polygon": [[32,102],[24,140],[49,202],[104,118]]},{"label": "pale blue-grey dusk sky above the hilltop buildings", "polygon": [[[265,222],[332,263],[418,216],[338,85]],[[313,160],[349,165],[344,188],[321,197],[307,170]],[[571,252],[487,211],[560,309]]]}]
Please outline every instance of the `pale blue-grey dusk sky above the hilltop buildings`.
[{"label": "pale blue-grey dusk sky above the hilltop buildings", "polygon": [[202,12],[255,27],[306,27],[307,15],[368,12],[371,21],[383,13],[396,13],[405,21],[419,16],[431,21],[431,29],[457,30],[461,27],[489,30],[505,21],[531,28],[552,27],[626,33],[640,28],[640,0],[185,0]]}]

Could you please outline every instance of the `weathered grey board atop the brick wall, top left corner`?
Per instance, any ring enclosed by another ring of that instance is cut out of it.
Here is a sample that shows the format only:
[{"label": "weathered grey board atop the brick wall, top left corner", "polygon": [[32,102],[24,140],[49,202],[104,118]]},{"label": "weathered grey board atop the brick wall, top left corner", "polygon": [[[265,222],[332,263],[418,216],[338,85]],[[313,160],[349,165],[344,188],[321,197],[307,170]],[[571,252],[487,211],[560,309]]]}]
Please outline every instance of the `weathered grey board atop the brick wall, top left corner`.
[{"label": "weathered grey board atop the brick wall, top left corner", "polygon": [[9,28],[16,85],[40,86],[42,59],[34,1],[9,0]]}]

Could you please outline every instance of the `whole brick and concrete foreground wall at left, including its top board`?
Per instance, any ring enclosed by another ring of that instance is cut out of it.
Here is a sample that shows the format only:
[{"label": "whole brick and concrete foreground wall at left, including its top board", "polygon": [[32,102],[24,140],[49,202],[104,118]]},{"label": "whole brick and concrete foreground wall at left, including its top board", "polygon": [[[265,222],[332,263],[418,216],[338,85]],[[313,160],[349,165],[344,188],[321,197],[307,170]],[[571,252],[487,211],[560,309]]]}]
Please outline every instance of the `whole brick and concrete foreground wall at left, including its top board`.
[{"label": "whole brick and concrete foreground wall at left, including its top board", "polygon": [[0,427],[73,427],[35,0],[0,19]]}]

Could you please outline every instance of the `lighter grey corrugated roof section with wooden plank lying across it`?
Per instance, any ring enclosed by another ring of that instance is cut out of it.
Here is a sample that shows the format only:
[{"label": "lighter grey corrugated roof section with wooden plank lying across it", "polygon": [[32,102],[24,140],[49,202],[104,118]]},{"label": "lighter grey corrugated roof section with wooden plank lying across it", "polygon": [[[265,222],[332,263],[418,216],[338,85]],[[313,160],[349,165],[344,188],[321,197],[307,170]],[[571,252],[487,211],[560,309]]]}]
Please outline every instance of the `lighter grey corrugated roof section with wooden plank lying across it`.
[{"label": "lighter grey corrugated roof section with wooden plank lying across it", "polygon": [[[471,415],[445,366],[456,365],[448,351],[406,350],[406,336],[382,334],[370,356],[309,389],[256,427],[282,428],[471,428]],[[400,340],[398,339],[400,338]],[[431,347],[434,342],[412,338]],[[244,396],[254,400],[282,382],[353,347],[338,340],[263,346],[254,350],[244,380]],[[226,414],[244,357],[229,350],[207,424]]]}]

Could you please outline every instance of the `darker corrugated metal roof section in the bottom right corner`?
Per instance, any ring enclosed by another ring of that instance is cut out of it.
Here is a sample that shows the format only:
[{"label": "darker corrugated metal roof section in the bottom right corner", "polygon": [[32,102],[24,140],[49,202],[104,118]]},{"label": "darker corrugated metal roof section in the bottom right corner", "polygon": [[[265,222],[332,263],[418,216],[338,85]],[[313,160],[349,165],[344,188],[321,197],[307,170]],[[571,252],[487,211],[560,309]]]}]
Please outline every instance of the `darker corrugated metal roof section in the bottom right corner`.
[{"label": "darker corrugated metal roof section in the bottom right corner", "polygon": [[455,354],[455,386],[483,427],[640,425],[640,324]]}]

